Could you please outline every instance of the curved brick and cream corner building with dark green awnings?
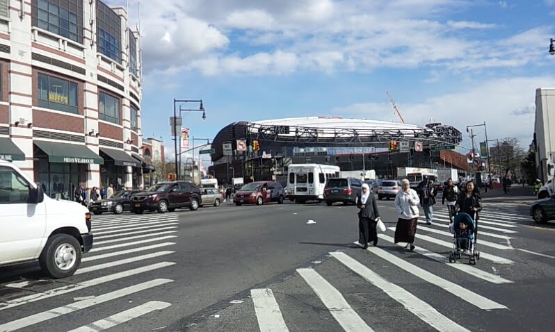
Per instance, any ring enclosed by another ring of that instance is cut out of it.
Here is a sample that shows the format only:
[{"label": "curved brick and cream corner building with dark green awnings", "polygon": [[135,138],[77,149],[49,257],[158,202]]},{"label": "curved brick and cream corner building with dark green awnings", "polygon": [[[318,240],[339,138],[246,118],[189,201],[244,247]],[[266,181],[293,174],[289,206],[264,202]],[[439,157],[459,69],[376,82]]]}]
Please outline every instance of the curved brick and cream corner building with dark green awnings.
[{"label": "curved brick and cream corner building with dark green awnings", "polygon": [[143,188],[139,50],[125,8],[0,0],[0,158],[57,199]]}]

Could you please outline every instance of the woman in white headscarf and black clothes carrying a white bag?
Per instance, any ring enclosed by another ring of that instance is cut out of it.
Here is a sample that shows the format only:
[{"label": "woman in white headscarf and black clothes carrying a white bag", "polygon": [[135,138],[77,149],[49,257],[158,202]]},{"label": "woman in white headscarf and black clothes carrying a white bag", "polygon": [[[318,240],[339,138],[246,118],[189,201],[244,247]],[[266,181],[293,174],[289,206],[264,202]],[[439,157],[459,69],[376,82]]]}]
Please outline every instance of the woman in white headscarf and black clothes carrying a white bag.
[{"label": "woman in white headscarf and black clothes carrying a white bag", "polygon": [[378,232],[376,226],[380,220],[376,197],[371,194],[370,186],[367,183],[362,185],[362,194],[357,199],[358,211],[358,243],[363,249],[368,249],[368,243],[373,242],[373,246],[378,245]]}]

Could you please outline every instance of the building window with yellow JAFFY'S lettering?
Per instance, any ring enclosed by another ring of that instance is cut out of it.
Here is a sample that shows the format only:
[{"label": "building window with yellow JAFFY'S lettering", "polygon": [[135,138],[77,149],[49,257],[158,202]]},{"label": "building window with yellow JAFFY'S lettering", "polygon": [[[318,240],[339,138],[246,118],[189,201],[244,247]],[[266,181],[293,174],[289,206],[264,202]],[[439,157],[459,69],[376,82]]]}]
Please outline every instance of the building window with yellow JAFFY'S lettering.
[{"label": "building window with yellow JAFFY'S lettering", "polygon": [[38,106],[61,112],[79,113],[78,85],[72,81],[38,74]]}]

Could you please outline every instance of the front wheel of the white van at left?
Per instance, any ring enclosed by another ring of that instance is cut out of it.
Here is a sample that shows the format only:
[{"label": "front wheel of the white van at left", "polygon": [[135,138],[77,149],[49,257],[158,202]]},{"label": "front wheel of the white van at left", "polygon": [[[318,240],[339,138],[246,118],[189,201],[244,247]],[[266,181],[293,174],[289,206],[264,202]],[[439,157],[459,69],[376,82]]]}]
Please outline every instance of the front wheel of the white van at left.
[{"label": "front wheel of the white van at left", "polygon": [[53,235],[42,249],[39,263],[42,271],[52,278],[72,276],[81,265],[81,244],[71,235]]}]

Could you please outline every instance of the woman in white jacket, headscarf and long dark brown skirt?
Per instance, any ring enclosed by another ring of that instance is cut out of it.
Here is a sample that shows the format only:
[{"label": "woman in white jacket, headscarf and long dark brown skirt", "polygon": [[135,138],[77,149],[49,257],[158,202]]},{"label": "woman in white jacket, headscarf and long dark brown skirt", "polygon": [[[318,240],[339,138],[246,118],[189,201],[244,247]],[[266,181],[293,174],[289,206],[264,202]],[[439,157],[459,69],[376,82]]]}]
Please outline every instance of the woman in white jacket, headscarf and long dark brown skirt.
[{"label": "woman in white jacket, headscarf and long dark brown skirt", "polygon": [[399,215],[395,229],[395,243],[406,242],[405,249],[410,246],[410,251],[415,250],[415,235],[420,211],[420,199],[415,190],[410,189],[407,179],[401,181],[401,189],[395,197],[395,210]]}]

